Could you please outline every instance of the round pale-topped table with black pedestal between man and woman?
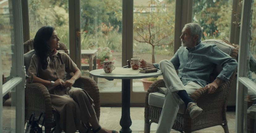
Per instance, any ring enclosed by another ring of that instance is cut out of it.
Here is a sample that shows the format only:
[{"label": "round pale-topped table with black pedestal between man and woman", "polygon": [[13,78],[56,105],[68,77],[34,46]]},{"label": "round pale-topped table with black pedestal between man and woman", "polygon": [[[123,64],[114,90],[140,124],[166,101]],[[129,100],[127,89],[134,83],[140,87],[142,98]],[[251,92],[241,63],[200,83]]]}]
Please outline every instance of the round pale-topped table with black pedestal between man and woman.
[{"label": "round pale-topped table with black pedestal between man and woman", "polygon": [[[103,69],[96,69],[90,71],[90,75],[100,78],[105,78],[108,80],[113,79],[122,79],[122,116],[120,120],[120,133],[131,133],[130,126],[132,124],[130,118],[130,81],[131,79],[140,79],[140,78],[148,78],[148,77],[158,77],[162,75],[162,72],[158,70],[155,73],[138,73],[136,75],[124,74],[126,70],[130,70],[131,68],[121,68],[116,67],[116,69],[122,69],[118,74],[104,74]],[[115,70],[113,70],[114,72]],[[139,71],[139,70],[134,70]]]}]

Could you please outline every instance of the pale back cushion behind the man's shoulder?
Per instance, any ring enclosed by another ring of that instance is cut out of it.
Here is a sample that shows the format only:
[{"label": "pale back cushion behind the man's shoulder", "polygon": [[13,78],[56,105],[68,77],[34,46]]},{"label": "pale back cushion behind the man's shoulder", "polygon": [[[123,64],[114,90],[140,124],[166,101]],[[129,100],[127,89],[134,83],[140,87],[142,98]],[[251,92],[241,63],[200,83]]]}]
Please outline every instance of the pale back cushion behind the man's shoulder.
[{"label": "pale back cushion behind the man's shoulder", "polygon": [[217,39],[207,39],[202,41],[204,44],[215,44],[221,51],[227,53],[228,55],[235,49],[235,47],[225,43],[222,40]]}]

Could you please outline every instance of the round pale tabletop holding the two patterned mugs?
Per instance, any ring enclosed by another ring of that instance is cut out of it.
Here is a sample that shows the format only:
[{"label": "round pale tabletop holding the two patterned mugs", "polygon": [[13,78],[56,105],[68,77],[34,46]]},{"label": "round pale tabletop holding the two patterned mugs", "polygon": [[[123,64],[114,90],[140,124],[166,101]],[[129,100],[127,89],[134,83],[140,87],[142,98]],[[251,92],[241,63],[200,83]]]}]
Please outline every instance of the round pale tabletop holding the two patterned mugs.
[{"label": "round pale tabletop holding the two patterned mugs", "polygon": [[[131,69],[131,68],[121,68],[121,67],[116,67],[116,69]],[[113,70],[114,71],[114,70]],[[139,71],[139,70],[138,70]],[[89,72],[90,74],[92,74],[95,77],[100,77],[100,78],[105,78],[105,79],[140,79],[140,78],[148,78],[148,77],[158,77],[160,75],[162,75],[162,72],[160,70],[158,70],[155,73],[138,73],[136,75],[127,75],[127,74],[102,74],[105,73],[103,69],[96,69],[96,70],[92,70]]]}]

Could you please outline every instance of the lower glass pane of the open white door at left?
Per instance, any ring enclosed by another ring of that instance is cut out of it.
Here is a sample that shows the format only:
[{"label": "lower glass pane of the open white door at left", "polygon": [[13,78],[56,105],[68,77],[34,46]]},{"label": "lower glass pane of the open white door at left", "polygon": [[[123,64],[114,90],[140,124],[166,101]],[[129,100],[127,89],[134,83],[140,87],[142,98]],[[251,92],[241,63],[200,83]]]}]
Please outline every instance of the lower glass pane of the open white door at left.
[{"label": "lower glass pane of the open white door at left", "polygon": [[[11,95],[13,96],[11,98]],[[15,89],[3,96],[3,133],[15,133],[16,109],[15,109]]]}]

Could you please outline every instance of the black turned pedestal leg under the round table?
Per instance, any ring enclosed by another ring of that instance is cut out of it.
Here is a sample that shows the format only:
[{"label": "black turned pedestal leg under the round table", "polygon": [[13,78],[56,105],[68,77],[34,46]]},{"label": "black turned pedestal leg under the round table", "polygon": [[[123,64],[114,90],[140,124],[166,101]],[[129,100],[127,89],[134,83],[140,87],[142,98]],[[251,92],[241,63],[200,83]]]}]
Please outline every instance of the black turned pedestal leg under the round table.
[{"label": "black turned pedestal leg under the round table", "polygon": [[132,124],[130,117],[130,79],[122,79],[122,117],[120,120],[120,133],[131,133]]}]

